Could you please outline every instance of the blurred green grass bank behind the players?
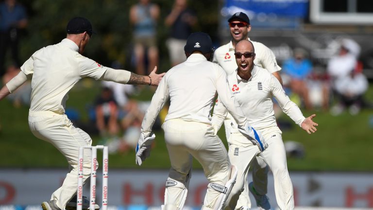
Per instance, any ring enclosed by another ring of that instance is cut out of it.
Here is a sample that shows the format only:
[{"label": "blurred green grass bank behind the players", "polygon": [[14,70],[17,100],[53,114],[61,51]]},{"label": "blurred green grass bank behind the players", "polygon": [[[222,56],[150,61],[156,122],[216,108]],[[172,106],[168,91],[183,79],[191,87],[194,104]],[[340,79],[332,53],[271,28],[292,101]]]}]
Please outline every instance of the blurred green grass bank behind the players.
[{"label": "blurred green grass bank behind the players", "polygon": [[[99,91],[99,83],[85,79],[78,83],[69,94],[68,107],[78,109],[83,121],[87,121],[86,106],[92,103]],[[152,92],[144,89],[137,96],[140,100],[150,100]],[[373,86],[366,94],[373,101]],[[288,158],[289,171],[363,171],[373,172],[373,110],[362,110],[358,115],[351,116],[345,112],[337,117],[328,112],[315,111],[319,123],[318,131],[309,135],[292,123],[290,129],[283,131],[283,140],[301,142],[305,147],[305,157],[301,159]],[[312,114],[305,112],[305,116]],[[36,139],[30,132],[28,122],[28,107],[14,107],[8,100],[0,102],[0,167],[67,167],[65,158],[50,143]],[[282,121],[291,122],[284,114]],[[157,131],[156,143],[141,168],[167,169],[170,166],[163,132]],[[219,131],[220,138],[225,142],[224,130]],[[98,136],[92,136],[93,144],[99,142]],[[99,152],[99,155],[101,153]],[[113,154],[109,157],[110,168],[136,168],[135,152]],[[195,168],[201,166],[195,162]]]}]

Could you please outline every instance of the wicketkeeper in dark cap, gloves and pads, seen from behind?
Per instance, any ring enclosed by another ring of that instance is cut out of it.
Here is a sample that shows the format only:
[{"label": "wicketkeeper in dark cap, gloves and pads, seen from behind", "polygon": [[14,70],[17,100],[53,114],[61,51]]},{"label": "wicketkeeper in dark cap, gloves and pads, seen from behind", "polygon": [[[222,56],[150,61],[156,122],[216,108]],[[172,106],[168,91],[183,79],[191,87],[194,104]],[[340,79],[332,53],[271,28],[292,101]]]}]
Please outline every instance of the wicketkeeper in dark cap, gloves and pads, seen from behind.
[{"label": "wicketkeeper in dark cap, gloves and pads, seen from behind", "polygon": [[183,209],[191,176],[192,157],[202,165],[209,181],[203,210],[220,210],[232,188],[237,171],[227,157],[227,151],[211,126],[210,111],[216,93],[238,123],[248,142],[263,151],[265,141],[248,125],[246,117],[229,92],[226,73],[209,62],[212,41],[209,35],[197,32],[189,35],[185,53],[187,60],[170,69],[159,84],[141,125],[136,163],[150,155],[155,138],[152,127],[163,105],[170,98],[170,107],[162,128],[170,156],[171,169],[166,181],[163,210]]}]

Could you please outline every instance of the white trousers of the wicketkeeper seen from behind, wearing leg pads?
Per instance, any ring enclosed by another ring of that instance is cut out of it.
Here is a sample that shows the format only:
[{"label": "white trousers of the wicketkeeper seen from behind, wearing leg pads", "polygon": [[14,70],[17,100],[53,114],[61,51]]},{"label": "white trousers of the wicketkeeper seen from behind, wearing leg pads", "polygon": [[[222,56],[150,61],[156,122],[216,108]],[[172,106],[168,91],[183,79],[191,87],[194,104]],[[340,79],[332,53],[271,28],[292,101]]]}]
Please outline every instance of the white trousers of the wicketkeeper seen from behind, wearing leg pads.
[{"label": "white trousers of the wicketkeeper seen from behind, wearing leg pads", "polygon": [[[187,122],[180,119],[163,123],[165,141],[169,151],[171,169],[169,177],[186,184],[186,176],[192,167],[192,157],[203,167],[210,183],[225,186],[230,169],[227,150],[211,125]],[[207,188],[203,209],[213,209],[220,192]],[[167,195],[165,203],[177,206],[175,196]]]}]

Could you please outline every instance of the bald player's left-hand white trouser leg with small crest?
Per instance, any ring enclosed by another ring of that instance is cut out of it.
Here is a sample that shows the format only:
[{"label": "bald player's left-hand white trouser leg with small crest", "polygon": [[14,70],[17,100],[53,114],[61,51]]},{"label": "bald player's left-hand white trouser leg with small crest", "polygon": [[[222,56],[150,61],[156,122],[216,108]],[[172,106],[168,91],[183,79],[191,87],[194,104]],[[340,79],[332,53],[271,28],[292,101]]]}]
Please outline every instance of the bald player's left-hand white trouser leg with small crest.
[{"label": "bald player's left-hand white trouser leg with small crest", "polygon": [[[255,157],[260,153],[260,150],[257,145],[254,145],[241,133],[232,133],[229,138],[230,139],[228,140],[228,142],[232,142],[232,140],[235,142],[235,144],[229,144],[228,156],[231,164],[237,167],[237,179],[236,184],[233,186],[232,191],[228,196],[228,205],[225,210],[234,210],[240,209],[240,207],[242,206],[237,206],[238,197],[240,196],[245,184],[247,183],[247,172],[249,170],[250,164],[253,159],[255,159]],[[241,143],[245,141],[246,143]],[[245,206],[247,206],[247,204],[245,204]],[[250,209],[251,206],[248,206],[248,208]]]}]

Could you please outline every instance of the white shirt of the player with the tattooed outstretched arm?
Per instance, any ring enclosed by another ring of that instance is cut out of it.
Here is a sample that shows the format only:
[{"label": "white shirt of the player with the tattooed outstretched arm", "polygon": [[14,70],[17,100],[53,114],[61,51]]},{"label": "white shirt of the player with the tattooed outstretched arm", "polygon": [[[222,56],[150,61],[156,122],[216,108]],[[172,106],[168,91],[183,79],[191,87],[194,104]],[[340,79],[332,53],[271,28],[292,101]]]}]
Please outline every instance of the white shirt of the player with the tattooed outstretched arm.
[{"label": "white shirt of the player with the tattooed outstretched arm", "polygon": [[65,113],[68,91],[82,78],[100,79],[107,70],[80,53],[70,39],[36,51],[21,67],[33,75],[30,111]]}]

